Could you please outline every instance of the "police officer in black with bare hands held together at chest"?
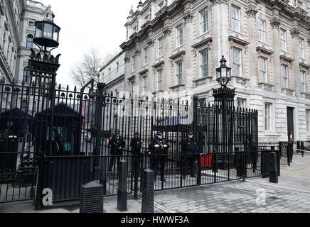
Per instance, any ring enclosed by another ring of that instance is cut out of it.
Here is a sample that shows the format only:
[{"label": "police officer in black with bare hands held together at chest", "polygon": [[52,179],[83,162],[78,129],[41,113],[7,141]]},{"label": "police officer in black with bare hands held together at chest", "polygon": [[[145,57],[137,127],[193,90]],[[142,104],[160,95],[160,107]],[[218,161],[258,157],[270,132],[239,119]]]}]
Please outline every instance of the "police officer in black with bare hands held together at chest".
[{"label": "police officer in black with bare hands held together at chest", "polygon": [[164,140],[163,138],[163,133],[162,132],[156,133],[155,138],[149,145],[149,150],[151,150],[152,155],[151,170],[154,171],[154,182],[156,182],[159,165],[161,165],[161,181],[166,182],[165,167],[169,148],[170,148],[169,144],[166,143],[166,140]]}]

